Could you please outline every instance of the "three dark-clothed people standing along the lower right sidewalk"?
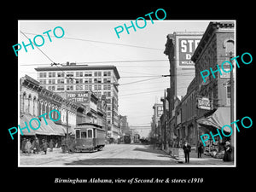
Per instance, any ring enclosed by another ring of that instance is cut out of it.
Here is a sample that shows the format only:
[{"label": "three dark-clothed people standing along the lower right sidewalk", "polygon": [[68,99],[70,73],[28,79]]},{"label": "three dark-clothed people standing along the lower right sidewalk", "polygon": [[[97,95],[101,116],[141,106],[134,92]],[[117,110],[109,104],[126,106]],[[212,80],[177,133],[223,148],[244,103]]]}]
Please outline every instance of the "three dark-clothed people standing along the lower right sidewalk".
[{"label": "three dark-clothed people standing along the lower right sidewalk", "polygon": [[[189,143],[185,142],[183,145],[183,152],[185,155],[185,163],[189,163],[189,153],[191,152],[191,146]],[[201,141],[198,143],[197,146],[197,157],[201,158],[201,154],[203,153],[203,144]],[[232,153],[233,150],[231,148],[230,142],[226,142],[224,145],[224,161],[232,161]]]}]

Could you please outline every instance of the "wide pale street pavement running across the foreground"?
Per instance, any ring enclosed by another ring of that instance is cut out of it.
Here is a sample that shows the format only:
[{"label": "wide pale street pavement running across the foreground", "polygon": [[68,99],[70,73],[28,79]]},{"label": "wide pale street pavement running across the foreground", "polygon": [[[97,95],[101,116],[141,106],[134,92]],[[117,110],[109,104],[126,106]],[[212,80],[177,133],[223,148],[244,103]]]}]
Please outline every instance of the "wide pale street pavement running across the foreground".
[{"label": "wide pale street pavement running across the foreground", "polygon": [[20,166],[231,166],[231,162],[190,154],[190,163],[177,163],[170,155],[142,144],[108,144],[95,153],[62,154],[61,148],[45,154],[20,154]]}]

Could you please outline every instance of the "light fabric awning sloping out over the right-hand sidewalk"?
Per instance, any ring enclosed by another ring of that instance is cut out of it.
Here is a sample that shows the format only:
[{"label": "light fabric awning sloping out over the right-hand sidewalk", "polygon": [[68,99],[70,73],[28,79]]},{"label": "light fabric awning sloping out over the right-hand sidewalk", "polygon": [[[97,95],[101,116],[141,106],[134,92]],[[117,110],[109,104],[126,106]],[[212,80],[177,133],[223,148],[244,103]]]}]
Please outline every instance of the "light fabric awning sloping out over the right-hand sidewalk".
[{"label": "light fabric awning sloping out over the right-hand sidewalk", "polygon": [[[220,107],[212,115],[197,119],[196,122],[199,125],[212,126],[221,130],[224,125],[230,125],[230,107]],[[230,133],[230,128],[224,127],[224,131]]]}]

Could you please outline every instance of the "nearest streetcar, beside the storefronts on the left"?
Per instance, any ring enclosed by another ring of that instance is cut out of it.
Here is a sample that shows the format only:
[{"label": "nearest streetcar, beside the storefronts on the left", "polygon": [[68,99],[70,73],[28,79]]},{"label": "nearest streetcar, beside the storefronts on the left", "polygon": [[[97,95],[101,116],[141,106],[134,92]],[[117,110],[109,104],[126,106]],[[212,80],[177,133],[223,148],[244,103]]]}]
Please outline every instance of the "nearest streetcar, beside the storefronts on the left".
[{"label": "nearest streetcar, beside the storefronts on the left", "polygon": [[75,128],[75,152],[95,152],[100,151],[105,146],[106,131],[101,125],[83,123]]}]

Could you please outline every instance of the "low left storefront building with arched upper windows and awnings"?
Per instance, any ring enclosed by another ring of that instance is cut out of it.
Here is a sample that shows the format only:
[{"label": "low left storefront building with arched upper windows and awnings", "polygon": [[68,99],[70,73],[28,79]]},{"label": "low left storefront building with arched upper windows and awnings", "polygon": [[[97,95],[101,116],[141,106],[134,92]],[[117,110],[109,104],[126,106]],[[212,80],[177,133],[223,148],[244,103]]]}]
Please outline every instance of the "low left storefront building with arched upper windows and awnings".
[{"label": "low left storefront building with arched upper windows and awnings", "polygon": [[[41,141],[42,138],[54,139],[55,143],[61,142],[61,137],[67,135],[67,124],[63,121],[63,103],[67,106],[72,106],[73,110],[78,107],[65,100],[58,94],[46,90],[42,87],[39,82],[32,79],[28,75],[20,79],[20,127],[25,127],[32,118],[39,119],[41,121],[41,126],[38,130],[30,130],[20,132],[21,137],[31,137],[32,140],[38,137]],[[52,112],[49,117],[49,112],[52,110],[58,110],[61,117],[57,112]],[[74,134],[74,131],[70,129],[73,124],[73,120],[76,120],[76,111],[66,110],[65,113],[74,113],[75,116],[70,118],[68,124],[68,134]],[[41,117],[40,117],[41,116]],[[59,119],[53,122],[52,119]],[[45,123],[45,121],[47,123]],[[25,123],[26,122],[26,123]],[[32,127],[38,127],[37,123],[32,122]]]}]

